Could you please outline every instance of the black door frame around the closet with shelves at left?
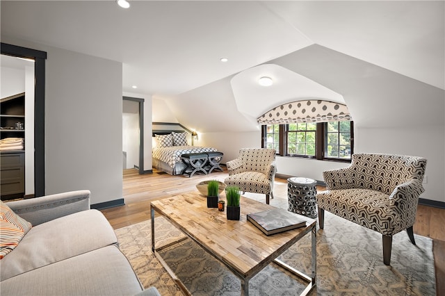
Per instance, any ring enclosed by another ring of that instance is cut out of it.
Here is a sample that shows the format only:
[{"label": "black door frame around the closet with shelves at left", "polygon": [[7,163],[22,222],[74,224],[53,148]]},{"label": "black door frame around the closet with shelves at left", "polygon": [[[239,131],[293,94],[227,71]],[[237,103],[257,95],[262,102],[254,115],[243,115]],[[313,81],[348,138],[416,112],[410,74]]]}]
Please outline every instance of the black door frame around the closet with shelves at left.
[{"label": "black door frame around the closet with shelves at left", "polygon": [[34,196],[44,195],[44,83],[47,53],[1,42],[1,54],[33,58],[34,63]]}]

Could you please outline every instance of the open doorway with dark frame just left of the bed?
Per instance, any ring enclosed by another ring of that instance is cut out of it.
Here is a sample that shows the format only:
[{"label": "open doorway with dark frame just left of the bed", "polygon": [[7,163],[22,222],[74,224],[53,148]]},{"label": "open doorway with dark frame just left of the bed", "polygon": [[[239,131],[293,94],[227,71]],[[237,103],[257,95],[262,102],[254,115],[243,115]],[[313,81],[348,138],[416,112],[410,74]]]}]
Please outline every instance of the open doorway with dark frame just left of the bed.
[{"label": "open doorway with dark frame just left of the bed", "polygon": [[122,168],[144,174],[144,99],[122,97]]}]

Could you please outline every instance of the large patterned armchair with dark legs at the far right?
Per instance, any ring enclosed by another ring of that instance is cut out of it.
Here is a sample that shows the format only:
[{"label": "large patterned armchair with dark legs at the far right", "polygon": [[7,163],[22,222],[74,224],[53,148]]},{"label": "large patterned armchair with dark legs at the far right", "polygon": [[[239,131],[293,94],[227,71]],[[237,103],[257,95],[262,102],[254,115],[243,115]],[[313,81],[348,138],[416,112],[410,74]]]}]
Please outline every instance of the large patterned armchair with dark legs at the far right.
[{"label": "large patterned armchair with dark legs at the far right", "polygon": [[327,191],[316,195],[320,228],[329,211],[382,233],[383,262],[390,265],[394,234],[406,229],[416,244],[412,226],[425,169],[425,158],[353,154],[349,167],[323,172]]}]

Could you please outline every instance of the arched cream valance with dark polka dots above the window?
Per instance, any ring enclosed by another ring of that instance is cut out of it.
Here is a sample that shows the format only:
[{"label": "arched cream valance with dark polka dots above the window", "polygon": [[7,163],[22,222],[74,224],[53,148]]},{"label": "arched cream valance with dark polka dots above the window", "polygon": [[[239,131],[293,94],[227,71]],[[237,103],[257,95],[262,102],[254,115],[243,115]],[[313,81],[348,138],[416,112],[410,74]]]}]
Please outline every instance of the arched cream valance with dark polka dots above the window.
[{"label": "arched cream valance with dark polka dots above the window", "polygon": [[316,99],[282,104],[257,118],[259,124],[339,122],[343,120],[352,120],[346,105]]}]

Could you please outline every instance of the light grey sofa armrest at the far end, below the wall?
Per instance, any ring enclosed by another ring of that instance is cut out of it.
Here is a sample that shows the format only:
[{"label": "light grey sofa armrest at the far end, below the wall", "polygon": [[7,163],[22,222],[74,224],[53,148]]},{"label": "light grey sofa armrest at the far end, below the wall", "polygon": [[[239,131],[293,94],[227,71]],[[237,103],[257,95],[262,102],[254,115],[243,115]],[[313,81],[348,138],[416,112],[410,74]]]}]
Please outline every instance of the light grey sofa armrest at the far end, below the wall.
[{"label": "light grey sofa armrest at the far end, below the wall", "polygon": [[33,226],[90,209],[90,190],[63,192],[8,202],[8,206]]}]

